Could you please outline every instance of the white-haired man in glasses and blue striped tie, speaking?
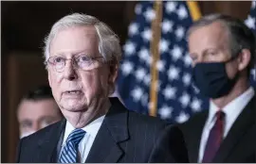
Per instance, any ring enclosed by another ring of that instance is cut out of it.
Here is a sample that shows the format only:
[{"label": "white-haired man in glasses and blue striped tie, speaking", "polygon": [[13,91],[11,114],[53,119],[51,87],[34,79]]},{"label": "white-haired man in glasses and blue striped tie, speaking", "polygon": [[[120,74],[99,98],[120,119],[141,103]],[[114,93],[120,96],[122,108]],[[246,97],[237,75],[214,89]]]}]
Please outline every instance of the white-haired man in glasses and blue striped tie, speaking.
[{"label": "white-haired man in glasses and blue striped tie, speaking", "polygon": [[20,141],[17,162],[187,162],[181,131],[127,110],[115,90],[119,39],[95,17],[74,13],[46,38],[46,68],[64,114]]}]

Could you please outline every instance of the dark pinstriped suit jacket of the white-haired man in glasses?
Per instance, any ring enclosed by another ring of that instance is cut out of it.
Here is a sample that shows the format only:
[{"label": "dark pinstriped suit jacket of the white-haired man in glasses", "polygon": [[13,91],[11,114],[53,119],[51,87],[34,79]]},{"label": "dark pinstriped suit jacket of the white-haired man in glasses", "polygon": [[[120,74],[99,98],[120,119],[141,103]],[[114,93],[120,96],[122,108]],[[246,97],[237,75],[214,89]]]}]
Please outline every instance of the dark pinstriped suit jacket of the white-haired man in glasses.
[{"label": "dark pinstriped suit jacket of the white-haired man in glasses", "polygon": [[[188,162],[181,131],[162,121],[127,110],[110,98],[106,114],[86,163]],[[16,162],[57,162],[65,120],[21,139]]]}]

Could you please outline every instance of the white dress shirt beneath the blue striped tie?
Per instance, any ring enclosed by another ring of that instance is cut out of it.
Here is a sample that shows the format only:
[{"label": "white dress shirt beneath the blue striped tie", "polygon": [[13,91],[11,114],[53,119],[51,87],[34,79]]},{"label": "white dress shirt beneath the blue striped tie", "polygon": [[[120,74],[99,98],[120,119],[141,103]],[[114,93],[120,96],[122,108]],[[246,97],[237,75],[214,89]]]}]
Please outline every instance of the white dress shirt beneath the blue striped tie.
[{"label": "white dress shirt beneath the blue striped tie", "polygon": [[[101,127],[101,124],[104,120],[105,115],[101,116],[100,118],[96,119],[92,123],[87,124],[86,126],[82,127],[86,133],[82,140],[79,143],[78,151],[80,156],[80,162],[84,163],[93,144],[94,139],[96,138],[98,131]],[[75,129],[71,123],[66,121],[65,130],[64,130],[64,140],[62,144],[62,150],[66,143],[66,139],[68,135]],[[62,153],[62,152],[61,152]],[[60,154],[61,155],[61,154]]]}]

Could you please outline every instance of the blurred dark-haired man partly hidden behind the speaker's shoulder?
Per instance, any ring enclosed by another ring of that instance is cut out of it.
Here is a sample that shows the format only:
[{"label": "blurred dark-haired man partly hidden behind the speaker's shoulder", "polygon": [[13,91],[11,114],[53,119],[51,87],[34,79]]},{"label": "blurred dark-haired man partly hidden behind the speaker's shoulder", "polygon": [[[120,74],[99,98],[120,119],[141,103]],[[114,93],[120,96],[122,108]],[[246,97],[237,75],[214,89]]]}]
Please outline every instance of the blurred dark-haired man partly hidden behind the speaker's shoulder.
[{"label": "blurred dark-haired man partly hidden behind the speaker's shoulder", "polygon": [[17,109],[20,138],[58,122],[62,117],[62,112],[52,96],[50,87],[40,86],[36,90],[30,90]]}]

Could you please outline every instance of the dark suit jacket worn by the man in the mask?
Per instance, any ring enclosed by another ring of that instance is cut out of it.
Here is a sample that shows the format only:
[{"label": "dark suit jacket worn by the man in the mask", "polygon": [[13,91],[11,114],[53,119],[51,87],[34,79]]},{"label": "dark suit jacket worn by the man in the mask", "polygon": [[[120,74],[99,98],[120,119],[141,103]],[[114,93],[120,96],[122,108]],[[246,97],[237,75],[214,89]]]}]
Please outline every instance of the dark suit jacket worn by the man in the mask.
[{"label": "dark suit jacket worn by the man in the mask", "polygon": [[[235,108],[234,108],[235,110]],[[199,145],[208,111],[195,114],[188,122],[180,124],[190,162],[198,161]],[[213,158],[213,163],[255,163],[256,162],[256,96],[243,109],[229,129],[227,137]]]}]

